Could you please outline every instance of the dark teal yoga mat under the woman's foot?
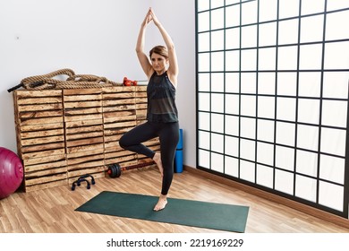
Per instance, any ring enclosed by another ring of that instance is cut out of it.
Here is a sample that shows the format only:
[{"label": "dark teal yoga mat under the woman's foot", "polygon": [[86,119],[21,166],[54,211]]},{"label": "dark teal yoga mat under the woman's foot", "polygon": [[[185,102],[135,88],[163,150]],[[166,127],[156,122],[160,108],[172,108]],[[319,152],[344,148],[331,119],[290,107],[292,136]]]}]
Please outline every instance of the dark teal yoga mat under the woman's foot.
[{"label": "dark teal yoga mat under the woman's foot", "polygon": [[233,232],[244,232],[246,228],[247,206],[167,198],[166,208],[154,212],[157,199],[157,196],[104,191],[75,211]]}]

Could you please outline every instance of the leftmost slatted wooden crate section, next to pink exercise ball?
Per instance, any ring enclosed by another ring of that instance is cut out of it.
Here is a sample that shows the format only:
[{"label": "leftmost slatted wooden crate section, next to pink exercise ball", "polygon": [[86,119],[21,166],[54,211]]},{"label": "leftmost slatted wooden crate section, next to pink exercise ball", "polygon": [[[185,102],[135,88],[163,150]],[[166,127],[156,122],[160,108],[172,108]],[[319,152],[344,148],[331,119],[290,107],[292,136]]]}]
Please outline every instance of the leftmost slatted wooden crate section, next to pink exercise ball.
[{"label": "leftmost slatted wooden crate section, next to pink exercise ball", "polygon": [[67,184],[62,91],[14,91],[26,191]]}]

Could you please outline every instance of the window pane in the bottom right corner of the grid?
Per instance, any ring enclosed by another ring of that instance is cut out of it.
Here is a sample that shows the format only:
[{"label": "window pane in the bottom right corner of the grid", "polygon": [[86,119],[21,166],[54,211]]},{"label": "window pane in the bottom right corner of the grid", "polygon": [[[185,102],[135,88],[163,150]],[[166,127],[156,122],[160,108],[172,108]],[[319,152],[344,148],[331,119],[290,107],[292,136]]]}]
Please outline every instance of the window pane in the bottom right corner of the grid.
[{"label": "window pane in the bottom right corner of the grid", "polygon": [[344,187],[319,181],[319,203],[337,211],[343,211]]}]

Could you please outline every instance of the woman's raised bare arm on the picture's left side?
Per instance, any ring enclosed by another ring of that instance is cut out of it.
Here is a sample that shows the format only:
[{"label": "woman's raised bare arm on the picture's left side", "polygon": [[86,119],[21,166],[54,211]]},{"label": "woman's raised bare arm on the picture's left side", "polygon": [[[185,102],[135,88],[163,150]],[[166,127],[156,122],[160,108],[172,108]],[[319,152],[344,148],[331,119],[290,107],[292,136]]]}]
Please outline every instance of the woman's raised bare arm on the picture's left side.
[{"label": "woman's raised bare arm on the picture's left side", "polygon": [[143,69],[144,73],[150,78],[151,74],[153,74],[154,70],[149,62],[149,58],[147,54],[144,52],[144,43],[145,43],[145,33],[147,30],[147,25],[151,21],[150,9],[147,13],[144,21],[140,24],[140,33],[137,39],[136,45],[136,53],[138,56],[138,60],[140,61],[140,66]]}]

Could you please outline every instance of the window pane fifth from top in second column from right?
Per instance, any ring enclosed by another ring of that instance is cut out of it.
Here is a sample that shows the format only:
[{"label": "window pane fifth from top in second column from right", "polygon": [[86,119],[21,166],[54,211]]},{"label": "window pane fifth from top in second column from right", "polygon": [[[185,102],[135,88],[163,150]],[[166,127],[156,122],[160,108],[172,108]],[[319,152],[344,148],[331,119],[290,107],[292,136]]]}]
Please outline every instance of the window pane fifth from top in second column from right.
[{"label": "window pane fifth from top in second column from right", "polygon": [[319,125],[319,100],[298,99],[298,122]]}]

